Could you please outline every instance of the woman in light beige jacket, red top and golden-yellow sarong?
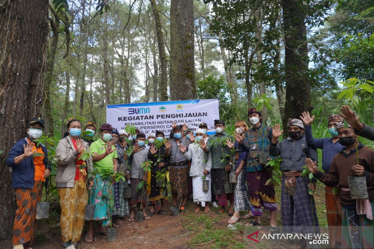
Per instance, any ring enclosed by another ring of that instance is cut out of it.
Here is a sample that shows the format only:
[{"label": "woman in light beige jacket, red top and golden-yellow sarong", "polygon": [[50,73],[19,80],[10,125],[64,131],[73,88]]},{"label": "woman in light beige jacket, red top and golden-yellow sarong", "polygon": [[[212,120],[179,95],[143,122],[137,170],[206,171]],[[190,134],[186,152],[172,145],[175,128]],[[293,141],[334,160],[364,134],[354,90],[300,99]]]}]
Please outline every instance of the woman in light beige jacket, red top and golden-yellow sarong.
[{"label": "woman in light beige jacket, red top and golden-yellow sarong", "polygon": [[[93,179],[87,179],[87,173],[92,172],[93,168],[91,156],[86,161],[80,159],[81,153],[89,150],[88,143],[79,138],[82,132],[80,121],[71,119],[67,123],[67,132],[69,135],[62,138],[56,147],[56,186],[61,206],[62,246],[73,249],[80,240],[85,223],[88,189],[93,185]],[[86,165],[86,168],[80,169],[82,165]]]}]

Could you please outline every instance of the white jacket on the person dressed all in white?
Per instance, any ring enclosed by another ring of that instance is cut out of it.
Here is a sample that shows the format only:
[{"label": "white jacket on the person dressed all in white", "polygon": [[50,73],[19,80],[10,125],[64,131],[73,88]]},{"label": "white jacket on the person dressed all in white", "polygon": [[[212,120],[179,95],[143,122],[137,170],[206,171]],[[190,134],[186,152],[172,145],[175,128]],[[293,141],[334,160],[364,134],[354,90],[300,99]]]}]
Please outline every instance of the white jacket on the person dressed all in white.
[{"label": "white jacket on the person dressed all in white", "polygon": [[[210,151],[205,153],[200,148],[199,144],[191,143],[183,156],[188,161],[192,159],[190,176],[204,176],[204,169],[209,171],[208,176],[210,176],[210,171],[212,169],[212,154]],[[205,160],[207,160],[206,163],[204,162]]]}]

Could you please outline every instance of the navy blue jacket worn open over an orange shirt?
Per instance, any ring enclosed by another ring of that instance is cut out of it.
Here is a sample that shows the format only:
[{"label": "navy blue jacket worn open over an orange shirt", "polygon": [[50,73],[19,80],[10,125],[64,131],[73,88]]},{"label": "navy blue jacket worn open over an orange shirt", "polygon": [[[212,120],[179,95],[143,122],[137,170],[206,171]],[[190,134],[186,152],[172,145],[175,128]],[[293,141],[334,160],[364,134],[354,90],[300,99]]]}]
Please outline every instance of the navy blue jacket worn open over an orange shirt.
[{"label": "navy blue jacket worn open over an orange shirt", "polygon": [[[13,188],[26,188],[32,189],[34,187],[34,173],[35,173],[35,166],[34,160],[32,156],[23,159],[19,164],[14,162],[14,158],[20,156],[24,153],[24,145],[26,146],[27,140],[26,138],[22,138],[21,140],[17,141],[12,149],[9,152],[9,155],[6,159],[6,165],[8,167],[12,167],[12,187]],[[48,151],[45,146],[42,146],[42,150],[44,155],[48,156]],[[50,162],[48,162],[48,157],[44,157],[44,165],[46,169],[49,168],[50,170]],[[47,180],[47,179],[46,179]],[[47,183],[46,183],[47,184]]]}]

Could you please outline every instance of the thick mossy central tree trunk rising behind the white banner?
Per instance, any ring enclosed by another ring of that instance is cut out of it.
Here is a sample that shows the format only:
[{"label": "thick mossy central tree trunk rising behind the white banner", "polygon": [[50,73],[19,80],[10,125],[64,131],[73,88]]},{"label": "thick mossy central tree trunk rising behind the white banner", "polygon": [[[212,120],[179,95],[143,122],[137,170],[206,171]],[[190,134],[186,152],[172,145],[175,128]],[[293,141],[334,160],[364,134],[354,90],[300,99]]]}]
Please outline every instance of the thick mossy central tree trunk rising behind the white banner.
[{"label": "thick mossy central tree trunk rising behind the white banner", "polygon": [[170,98],[196,99],[193,0],[170,2]]}]

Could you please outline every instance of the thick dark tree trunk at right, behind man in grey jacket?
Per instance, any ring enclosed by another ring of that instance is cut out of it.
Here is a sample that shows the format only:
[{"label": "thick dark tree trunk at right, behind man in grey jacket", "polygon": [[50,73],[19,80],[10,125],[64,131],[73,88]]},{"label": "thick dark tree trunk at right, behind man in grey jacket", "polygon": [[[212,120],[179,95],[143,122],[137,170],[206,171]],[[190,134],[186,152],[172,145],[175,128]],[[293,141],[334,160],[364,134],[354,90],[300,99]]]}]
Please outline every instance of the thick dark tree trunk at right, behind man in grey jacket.
[{"label": "thick dark tree trunk at right, behind man in grey jacket", "polygon": [[[285,40],[286,99],[283,130],[289,118],[298,118],[310,105],[310,79],[308,77],[308,47],[306,41],[305,11],[297,0],[282,0]],[[287,137],[283,133],[283,137]]]}]

